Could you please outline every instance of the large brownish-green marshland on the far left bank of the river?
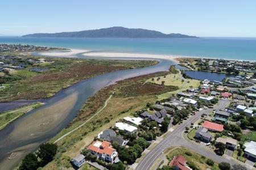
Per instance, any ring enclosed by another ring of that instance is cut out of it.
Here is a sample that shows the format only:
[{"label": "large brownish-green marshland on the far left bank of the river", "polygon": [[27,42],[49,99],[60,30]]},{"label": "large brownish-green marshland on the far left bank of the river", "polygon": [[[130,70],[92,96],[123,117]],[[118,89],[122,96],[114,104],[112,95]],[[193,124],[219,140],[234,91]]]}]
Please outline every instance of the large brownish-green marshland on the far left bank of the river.
[{"label": "large brownish-green marshland on the far left bank of the river", "polygon": [[[0,101],[50,97],[63,88],[98,74],[158,63],[158,61],[79,58],[52,58],[52,60],[54,62],[35,64],[26,69],[11,71],[11,73],[0,77],[0,82],[10,84],[8,89],[1,92]],[[31,67],[47,68],[48,70],[39,73],[30,71]]]}]

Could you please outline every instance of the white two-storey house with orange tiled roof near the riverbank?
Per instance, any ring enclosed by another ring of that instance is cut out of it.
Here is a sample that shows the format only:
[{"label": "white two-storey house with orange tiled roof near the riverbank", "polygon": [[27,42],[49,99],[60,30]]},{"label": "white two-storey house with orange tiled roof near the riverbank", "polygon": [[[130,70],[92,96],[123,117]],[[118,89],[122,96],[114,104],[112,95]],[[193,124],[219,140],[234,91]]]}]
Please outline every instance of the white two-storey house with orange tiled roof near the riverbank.
[{"label": "white two-storey house with orange tiled roof near the riverbank", "polygon": [[97,159],[102,159],[105,162],[113,163],[118,156],[115,148],[107,141],[94,141],[88,146],[88,150],[90,150],[92,154],[97,155]]}]

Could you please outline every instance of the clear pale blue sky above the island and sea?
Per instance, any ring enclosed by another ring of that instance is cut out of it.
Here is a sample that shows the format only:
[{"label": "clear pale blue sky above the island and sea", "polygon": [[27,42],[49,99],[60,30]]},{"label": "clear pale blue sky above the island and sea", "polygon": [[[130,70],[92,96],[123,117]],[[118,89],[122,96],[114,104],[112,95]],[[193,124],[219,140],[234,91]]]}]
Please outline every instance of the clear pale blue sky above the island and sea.
[{"label": "clear pale blue sky above the island and sea", "polygon": [[256,37],[256,1],[8,0],[0,36],[122,26],[200,37]]}]

